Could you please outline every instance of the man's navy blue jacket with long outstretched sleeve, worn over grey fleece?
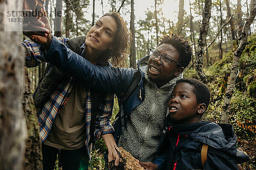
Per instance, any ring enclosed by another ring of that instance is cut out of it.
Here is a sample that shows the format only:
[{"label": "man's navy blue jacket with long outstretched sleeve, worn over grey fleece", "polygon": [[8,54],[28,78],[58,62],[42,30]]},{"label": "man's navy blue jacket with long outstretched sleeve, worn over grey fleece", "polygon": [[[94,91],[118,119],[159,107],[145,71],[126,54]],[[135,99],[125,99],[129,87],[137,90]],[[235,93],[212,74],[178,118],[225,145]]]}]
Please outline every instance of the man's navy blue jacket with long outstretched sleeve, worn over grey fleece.
[{"label": "man's navy blue jacket with long outstretched sleeve, worn over grey fleece", "polygon": [[[42,55],[44,59],[51,62],[58,69],[66,72],[76,79],[80,79],[86,83],[90,88],[99,89],[104,92],[115,93],[119,99],[119,104],[134,77],[137,69],[134,68],[110,68],[107,66],[97,66],[91,64],[86,59],[71,51],[66,45],[62,44],[56,37],[52,38],[52,44],[47,54]],[[129,99],[123,105],[124,122],[127,123],[127,118],[131,110],[137,105],[140,105],[145,99],[145,67],[148,62],[148,56],[140,59],[138,62],[138,70],[140,71],[140,83],[135,91],[131,94]],[[119,115],[117,115],[119,116]],[[113,125],[115,129],[114,137],[119,139],[121,134],[121,120],[120,116]],[[162,160],[155,164],[161,166]]]}]

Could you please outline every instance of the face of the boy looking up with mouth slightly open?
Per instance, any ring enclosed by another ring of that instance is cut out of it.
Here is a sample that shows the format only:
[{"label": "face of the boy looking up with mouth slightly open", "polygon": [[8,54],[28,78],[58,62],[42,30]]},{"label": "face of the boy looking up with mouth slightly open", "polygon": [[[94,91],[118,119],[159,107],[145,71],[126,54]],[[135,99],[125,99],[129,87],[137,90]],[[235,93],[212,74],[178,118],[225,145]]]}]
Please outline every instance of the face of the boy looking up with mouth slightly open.
[{"label": "face of the boy looking up with mouth slightly open", "polygon": [[168,103],[169,114],[173,123],[190,124],[200,122],[200,113],[204,113],[205,104],[197,103],[193,90],[194,87],[186,82],[175,85]]}]

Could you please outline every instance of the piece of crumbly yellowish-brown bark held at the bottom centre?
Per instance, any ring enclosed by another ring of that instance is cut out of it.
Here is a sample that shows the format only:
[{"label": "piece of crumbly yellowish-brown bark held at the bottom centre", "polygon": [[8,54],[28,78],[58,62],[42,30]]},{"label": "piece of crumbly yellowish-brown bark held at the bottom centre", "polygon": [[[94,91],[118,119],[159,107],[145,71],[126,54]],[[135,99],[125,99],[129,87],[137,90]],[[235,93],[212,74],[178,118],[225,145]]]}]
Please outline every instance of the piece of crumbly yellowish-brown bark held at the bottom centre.
[{"label": "piece of crumbly yellowish-brown bark held at the bottom centre", "polygon": [[122,159],[122,162],[119,162],[119,164],[123,166],[123,169],[120,170],[145,170],[142,166],[140,166],[136,159],[131,156],[131,153],[127,152],[122,147],[115,147],[115,149],[118,156]]}]

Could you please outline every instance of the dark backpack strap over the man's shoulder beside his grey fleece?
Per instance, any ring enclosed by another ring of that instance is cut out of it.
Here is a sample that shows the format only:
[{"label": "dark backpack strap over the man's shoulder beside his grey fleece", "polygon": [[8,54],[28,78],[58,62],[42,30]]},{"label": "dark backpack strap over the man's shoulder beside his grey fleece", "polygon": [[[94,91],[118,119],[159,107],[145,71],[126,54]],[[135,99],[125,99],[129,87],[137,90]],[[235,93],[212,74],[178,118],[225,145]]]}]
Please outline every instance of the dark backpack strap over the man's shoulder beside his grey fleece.
[{"label": "dark backpack strap over the man's shoulder beside his grey fleece", "polygon": [[121,125],[122,125],[122,129],[121,129],[121,133],[122,133],[122,135],[121,135],[122,136],[121,142],[125,141],[125,139],[124,139],[125,119],[124,119],[123,105],[125,104],[127,99],[129,99],[131,94],[135,91],[135,89],[137,88],[138,84],[140,83],[140,80],[141,80],[141,74],[140,74],[140,71],[137,70],[134,73],[134,77],[131,80],[129,88],[125,92],[125,95],[122,97],[122,102],[121,102],[121,106],[120,106],[120,118],[121,118]]}]

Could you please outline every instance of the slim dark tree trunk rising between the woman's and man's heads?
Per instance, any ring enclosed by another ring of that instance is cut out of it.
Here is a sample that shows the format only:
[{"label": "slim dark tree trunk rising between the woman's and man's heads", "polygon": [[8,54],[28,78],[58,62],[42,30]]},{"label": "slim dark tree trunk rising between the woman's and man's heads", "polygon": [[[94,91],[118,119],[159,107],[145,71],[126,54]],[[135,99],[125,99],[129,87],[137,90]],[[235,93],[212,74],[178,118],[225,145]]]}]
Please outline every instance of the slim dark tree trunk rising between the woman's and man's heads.
[{"label": "slim dark tree trunk rising between the woman's and man's heads", "polygon": [[131,29],[131,54],[130,54],[130,67],[136,67],[136,47],[135,47],[135,28],[134,28],[134,0],[131,0],[131,21],[130,21],[130,29]]}]

